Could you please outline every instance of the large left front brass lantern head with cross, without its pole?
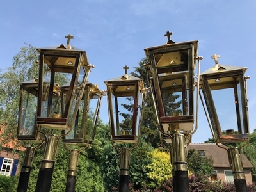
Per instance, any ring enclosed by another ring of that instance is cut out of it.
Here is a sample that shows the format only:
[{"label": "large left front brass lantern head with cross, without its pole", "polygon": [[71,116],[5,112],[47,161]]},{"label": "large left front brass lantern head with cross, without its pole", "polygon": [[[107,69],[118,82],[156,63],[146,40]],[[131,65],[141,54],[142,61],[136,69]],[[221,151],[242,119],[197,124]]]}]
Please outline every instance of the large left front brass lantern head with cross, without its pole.
[{"label": "large left front brass lantern head with cross, without its pole", "polygon": [[[40,53],[38,110],[36,122],[46,129],[72,129],[76,120],[80,101],[88,79],[90,68],[86,52],[72,47],[68,35],[67,45],[38,48]],[[43,86],[44,81],[48,86]],[[60,113],[61,104],[54,105],[60,99],[60,86],[69,85],[65,108]]]}]

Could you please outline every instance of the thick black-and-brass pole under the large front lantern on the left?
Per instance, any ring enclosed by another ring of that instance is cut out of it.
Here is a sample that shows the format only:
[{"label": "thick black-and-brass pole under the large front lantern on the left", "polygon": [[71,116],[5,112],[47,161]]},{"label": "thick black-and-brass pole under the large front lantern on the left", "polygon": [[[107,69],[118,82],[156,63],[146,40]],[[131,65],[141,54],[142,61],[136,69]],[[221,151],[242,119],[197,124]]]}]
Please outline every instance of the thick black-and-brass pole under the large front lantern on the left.
[{"label": "thick black-and-brass pole under the large front lantern on the left", "polygon": [[35,192],[49,192],[54,170],[57,136],[50,135],[45,143],[44,159],[41,161]]}]

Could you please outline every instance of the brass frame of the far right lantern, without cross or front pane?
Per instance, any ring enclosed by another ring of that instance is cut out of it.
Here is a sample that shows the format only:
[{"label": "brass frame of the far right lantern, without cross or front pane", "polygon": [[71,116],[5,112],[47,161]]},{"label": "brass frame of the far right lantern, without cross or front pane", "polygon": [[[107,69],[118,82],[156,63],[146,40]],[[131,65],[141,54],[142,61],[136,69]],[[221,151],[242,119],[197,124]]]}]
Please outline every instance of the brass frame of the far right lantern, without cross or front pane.
[{"label": "brass frame of the far right lantern, without cross or front pane", "polygon": [[[200,74],[200,89],[202,90],[204,100],[201,94],[200,98],[216,143],[237,143],[249,140],[246,79],[250,77],[244,76],[246,70],[246,67],[220,65],[217,62],[214,67]],[[227,88],[233,88],[234,90],[237,132],[234,132],[234,129],[226,129],[226,134],[223,134],[212,91],[225,90]]]}]

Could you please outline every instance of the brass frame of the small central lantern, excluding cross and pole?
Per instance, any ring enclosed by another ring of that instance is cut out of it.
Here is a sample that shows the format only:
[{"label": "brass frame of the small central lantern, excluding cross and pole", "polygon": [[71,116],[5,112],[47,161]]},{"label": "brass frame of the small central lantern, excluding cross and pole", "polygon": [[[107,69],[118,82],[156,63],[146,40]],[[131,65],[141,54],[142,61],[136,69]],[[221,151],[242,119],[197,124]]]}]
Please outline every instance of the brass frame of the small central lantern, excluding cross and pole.
[{"label": "brass frame of the small central lantern, excluding cross and pole", "polygon": [[[144,111],[143,101],[146,96],[143,79],[125,74],[124,76],[104,81],[104,83],[107,86],[111,141],[119,144],[138,143]],[[137,106],[137,108],[133,108],[132,111],[132,127],[130,133],[122,132],[120,130],[122,128],[119,127],[121,122],[119,122],[118,118],[118,98],[124,97],[133,97],[133,106]]]}]

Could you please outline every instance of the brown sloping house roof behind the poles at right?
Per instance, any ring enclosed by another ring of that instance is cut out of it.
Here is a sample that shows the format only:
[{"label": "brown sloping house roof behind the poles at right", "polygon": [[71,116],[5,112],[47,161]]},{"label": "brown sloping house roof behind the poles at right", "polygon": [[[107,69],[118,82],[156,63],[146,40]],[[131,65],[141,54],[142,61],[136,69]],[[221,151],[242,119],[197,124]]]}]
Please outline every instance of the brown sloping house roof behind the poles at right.
[{"label": "brown sloping house roof behind the poles at right", "polygon": [[[220,144],[221,147],[228,148]],[[205,156],[212,157],[214,167],[230,167],[228,161],[228,152],[224,148],[218,147],[215,143],[191,143],[188,145],[189,149],[204,150]],[[247,159],[244,154],[241,154],[243,168],[252,168],[252,163]]]}]

